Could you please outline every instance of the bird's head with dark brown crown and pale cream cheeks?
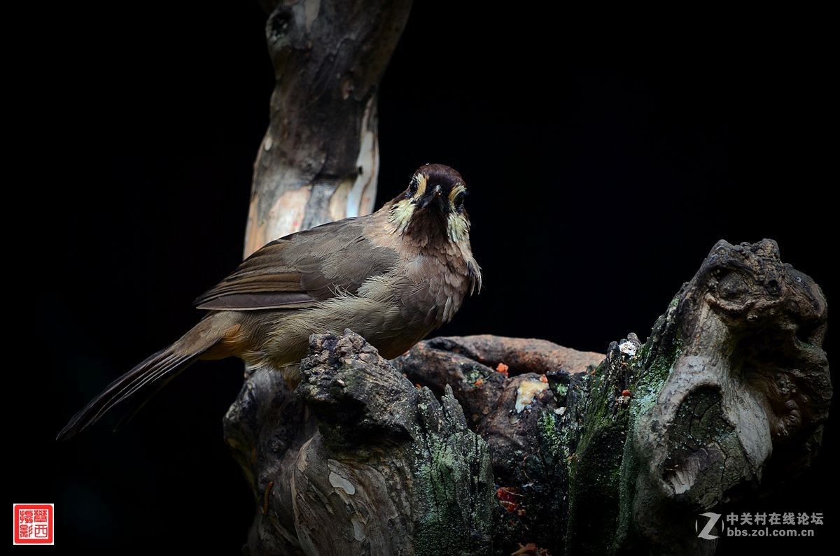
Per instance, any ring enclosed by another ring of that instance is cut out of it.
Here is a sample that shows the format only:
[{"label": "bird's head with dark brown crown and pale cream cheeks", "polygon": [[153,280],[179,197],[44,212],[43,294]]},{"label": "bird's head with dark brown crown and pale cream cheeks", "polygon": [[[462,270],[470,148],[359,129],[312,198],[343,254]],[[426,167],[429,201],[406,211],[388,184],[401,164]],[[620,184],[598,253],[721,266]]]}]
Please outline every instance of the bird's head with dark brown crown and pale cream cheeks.
[{"label": "bird's head with dark brown crown and pale cream cheeks", "polygon": [[454,242],[469,239],[466,195],[464,178],[456,170],[442,164],[420,166],[406,191],[391,202],[395,232]]}]

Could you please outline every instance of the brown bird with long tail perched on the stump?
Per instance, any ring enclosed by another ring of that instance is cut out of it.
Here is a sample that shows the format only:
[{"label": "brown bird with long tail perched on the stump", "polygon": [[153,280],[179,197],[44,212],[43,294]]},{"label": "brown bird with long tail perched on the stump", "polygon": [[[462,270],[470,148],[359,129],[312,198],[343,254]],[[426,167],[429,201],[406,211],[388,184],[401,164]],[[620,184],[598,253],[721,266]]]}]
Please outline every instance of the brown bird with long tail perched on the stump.
[{"label": "brown bird with long tail perched on the stump", "polygon": [[142,405],[200,359],[268,365],[293,387],[313,333],[349,328],[386,359],[404,354],[481,289],[466,195],[457,170],[423,165],[379,210],[265,244],[197,298],[206,313],[192,329],[109,384],[56,438]]}]

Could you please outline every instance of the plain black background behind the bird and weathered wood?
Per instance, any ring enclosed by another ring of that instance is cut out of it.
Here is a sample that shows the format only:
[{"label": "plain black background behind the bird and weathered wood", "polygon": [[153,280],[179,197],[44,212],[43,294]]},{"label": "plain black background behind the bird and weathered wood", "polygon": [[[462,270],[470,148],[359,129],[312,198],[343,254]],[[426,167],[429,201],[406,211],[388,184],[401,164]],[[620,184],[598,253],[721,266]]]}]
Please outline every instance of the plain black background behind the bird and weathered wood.
[{"label": "plain black background behind the bird and weathered wood", "polygon": [[[193,298],[242,252],[273,87],[265,15],[174,4],[55,8],[36,37],[49,54],[24,62],[26,202],[8,210],[34,215],[13,240],[32,320],[28,364],[7,367],[11,463],[24,465],[12,498],[55,502],[56,543],[93,552],[239,553],[254,507],[221,434],[237,361],[192,368],[121,433],[53,442],[192,326]],[[377,204],[431,161],[471,187],[486,289],[440,333],[597,351],[644,338],[717,239],[778,240],[831,299],[819,39],[701,32],[685,50],[653,40],[651,56],[634,48],[641,31],[562,16],[417,3],[382,83]],[[836,441],[830,426],[801,493],[747,511],[822,511],[827,540]]]}]

